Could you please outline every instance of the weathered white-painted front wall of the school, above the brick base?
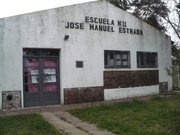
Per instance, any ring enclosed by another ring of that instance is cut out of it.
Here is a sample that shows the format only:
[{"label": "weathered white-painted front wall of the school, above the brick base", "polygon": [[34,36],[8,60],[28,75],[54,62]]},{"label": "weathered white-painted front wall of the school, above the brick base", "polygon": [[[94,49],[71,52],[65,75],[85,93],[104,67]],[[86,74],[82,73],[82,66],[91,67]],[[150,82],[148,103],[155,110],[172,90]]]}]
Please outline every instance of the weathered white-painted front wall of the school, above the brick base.
[{"label": "weathered white-painted front wall of the school, above the brick base", "polygon": [[[119,33],[117,24],[115,32],[91,31],[85,16],[125,21],[129,28],[142,29],[143,36]],[[66,29],[66,22],[84,23],[84,30]],[[0,92],[23,93],[23,48],[60,49],[61,103],[63,88],[103,86],[104,70],[124,70],[104,69],[104,50],[130,50],[131,68],[125,70],[143,70],[137,68],[136,51],[158,52],[159,81],[168,81],[171,88],[165,71],[171,65],[170,37],[105,1],[0,19],[0,29]],[[84,67],[76,68],[76,61]]]}]

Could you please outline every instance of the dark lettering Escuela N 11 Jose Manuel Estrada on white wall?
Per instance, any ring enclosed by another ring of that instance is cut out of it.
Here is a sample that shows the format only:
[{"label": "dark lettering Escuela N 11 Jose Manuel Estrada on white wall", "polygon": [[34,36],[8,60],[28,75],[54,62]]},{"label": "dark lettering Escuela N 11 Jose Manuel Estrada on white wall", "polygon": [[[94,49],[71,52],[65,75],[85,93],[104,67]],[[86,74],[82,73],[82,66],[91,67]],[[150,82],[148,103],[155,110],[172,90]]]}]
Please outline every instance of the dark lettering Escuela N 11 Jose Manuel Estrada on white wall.
[{"label": "dark lettering Escuela N 11 Jose Manuel Estrada on white wall", "polygon": [[[86,16],[85,23],[89,24],[89,30],[92,31],[115,32],[116,30],[118,30],[119,33],[143,35],[143,31],[141,29],[128,28],[125,21],[114,21],[107,18]],[[118,29],[116,29],[115,26],[117,26]],[[65,28],[81,30],[85,29],[84,23],[77,22],[66,22]]]}]

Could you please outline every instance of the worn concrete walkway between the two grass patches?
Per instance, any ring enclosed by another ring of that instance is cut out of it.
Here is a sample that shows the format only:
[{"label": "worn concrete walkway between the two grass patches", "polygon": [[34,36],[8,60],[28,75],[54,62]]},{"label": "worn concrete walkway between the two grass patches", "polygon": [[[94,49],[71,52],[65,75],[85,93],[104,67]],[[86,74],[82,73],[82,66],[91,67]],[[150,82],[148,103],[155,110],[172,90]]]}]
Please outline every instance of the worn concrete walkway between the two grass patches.
[{"label": "worn concrete walkway between the two grass patches", "polygon": [[44,112],[42,115],[58,130],[63,130],[70,135],[115,135],[98,129],[94,124],[83,122],[65,111]]}]

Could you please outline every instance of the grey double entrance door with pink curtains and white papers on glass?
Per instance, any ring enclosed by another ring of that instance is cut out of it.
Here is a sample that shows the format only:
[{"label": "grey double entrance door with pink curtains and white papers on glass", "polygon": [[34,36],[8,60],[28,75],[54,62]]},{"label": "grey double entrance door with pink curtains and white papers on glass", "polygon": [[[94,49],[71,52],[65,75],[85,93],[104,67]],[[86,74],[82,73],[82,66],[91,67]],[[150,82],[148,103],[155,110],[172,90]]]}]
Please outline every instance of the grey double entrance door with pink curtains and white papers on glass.
[{"label": "grey double entrance door with pink curtains and white papers on glass", "polygon": [[60,104],[59,50],[24,49],[24,106]]}]

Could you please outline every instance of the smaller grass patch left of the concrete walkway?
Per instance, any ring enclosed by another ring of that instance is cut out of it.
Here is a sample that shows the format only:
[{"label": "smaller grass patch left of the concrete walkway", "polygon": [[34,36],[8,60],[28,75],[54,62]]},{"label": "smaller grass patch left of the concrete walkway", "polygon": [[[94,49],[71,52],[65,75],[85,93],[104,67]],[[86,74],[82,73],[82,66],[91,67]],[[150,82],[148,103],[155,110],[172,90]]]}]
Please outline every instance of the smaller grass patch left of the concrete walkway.
[{"label": "smaller grass patch left of the concrete walkway", "polygon": [[0,117],[0,135],[66,135],[39,114]]}]

